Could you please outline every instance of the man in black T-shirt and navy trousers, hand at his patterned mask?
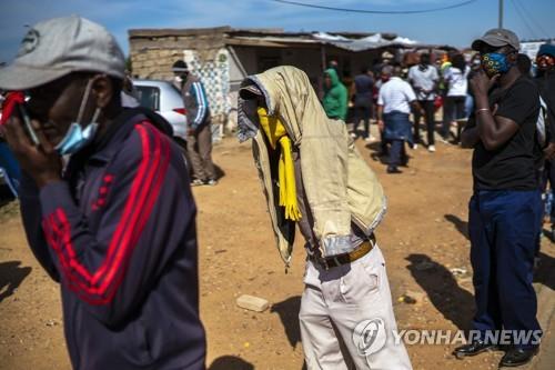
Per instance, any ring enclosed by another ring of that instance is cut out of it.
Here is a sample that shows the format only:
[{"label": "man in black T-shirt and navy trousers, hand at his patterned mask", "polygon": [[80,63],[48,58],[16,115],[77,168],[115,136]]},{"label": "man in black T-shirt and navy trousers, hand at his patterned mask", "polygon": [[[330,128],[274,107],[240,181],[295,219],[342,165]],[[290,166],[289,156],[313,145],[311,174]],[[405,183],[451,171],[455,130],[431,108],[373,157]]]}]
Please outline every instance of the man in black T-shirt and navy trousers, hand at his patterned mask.
[{"label": "man in black T-shirt and navy trousers, hand at his patterned mask", "polygon": [[476,312],[470,343],[455,354],[504,349],[500,366],[516,367],[537,352],[542,336],[532,286],[542,212],[534,166],[539,94],[516,66],[515,33],[493,29],[472,47],[482,71],[471,80],[476,107],[462,139],[474,148],[468,233]]}]

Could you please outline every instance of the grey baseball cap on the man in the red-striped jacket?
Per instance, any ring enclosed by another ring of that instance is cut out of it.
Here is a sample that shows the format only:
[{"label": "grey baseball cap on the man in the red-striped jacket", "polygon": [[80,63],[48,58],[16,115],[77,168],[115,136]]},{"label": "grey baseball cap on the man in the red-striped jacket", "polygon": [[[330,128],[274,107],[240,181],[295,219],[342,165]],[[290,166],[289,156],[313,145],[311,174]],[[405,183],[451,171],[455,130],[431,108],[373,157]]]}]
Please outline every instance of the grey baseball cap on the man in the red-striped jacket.
[{"label": "grey baseball cap on the man in the red-striped jacket", "polygon": [[27,90],[72,72],[101,72],[124,78],[125,59],[105,28],[70,16],[29,29],[13,62],[0,69],[0,89]]}]

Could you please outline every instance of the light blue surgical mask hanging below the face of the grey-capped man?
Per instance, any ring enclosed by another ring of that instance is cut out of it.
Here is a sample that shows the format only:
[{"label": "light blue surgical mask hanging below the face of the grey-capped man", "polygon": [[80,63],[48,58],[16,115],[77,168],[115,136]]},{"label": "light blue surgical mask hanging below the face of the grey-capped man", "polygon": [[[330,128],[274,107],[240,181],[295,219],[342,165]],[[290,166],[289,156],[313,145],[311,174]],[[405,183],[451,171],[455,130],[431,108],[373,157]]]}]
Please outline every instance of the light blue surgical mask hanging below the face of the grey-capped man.
[{"label": "light blue surgical mask hanging below the face of the grey-capped man", "polygon": [[81,119],[83,116],[84,107],[89,100],[89,94],[92,88],[92,80],[89,81],[87,88],[84,90],[83,100],[81,101],[81,107],[79,109],[79,114],[77,117],[77,122],[70,124],[68,132],[62,138],[62,140],[54,147],[56,151],[60,156],[73,154],[79,150],[89,144],[97,134],[98,123],[97,119],[100,116],[100,108],[97,108],[94,111],[94,116],[89,124],[87,124],[83,129],[83,124],[81,124]]}]

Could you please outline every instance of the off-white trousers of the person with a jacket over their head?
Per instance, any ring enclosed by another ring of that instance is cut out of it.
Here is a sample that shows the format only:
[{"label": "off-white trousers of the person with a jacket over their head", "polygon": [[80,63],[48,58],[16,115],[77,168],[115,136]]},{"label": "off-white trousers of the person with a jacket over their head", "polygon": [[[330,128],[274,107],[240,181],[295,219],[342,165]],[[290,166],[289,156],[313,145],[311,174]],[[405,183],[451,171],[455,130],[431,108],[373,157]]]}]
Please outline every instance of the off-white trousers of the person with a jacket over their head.
[{"label": "off-white trousers of the person with a jacket over their head", "polygon": [[397,326],[377,246],[330,270],[307,261],[304,283],[299,319],[309,370],[349,369],[352,362],[359,370],[412,369],[403,342],[396,343],[392,333]]}]

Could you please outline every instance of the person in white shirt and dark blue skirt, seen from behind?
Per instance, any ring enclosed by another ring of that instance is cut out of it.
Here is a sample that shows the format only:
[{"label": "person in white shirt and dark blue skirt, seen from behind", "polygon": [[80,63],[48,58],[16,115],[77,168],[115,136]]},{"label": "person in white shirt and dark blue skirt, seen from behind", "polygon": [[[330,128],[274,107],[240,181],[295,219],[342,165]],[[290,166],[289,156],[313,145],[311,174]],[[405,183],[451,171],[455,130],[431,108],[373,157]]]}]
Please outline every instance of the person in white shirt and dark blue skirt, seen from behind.
[{"label": "person in white shirt and dark blue skirt, seen from behind", "polygon": [[387,80],[377,97],[377,124],[384,131],[383,139],[391,142],[387,173],[401,173],[398,166],[406,164],[405,141],[413,143],[411,106],[424,113],[408,82],[401,79],[401,67],[386,66],[382,79]]}]

